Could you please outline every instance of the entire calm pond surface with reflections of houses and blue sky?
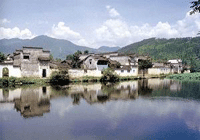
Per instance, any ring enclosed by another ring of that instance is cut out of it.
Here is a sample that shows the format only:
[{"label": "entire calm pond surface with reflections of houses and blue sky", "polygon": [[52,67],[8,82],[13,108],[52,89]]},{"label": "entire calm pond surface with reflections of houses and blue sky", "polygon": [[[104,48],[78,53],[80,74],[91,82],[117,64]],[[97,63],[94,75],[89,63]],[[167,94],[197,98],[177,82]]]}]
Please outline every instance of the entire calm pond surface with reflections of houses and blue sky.
[{"label": "entire calm pond surface with reflections of houses and blue sky", "polygon": [[0,139],[200,139],[200,82],[0,89]]}]

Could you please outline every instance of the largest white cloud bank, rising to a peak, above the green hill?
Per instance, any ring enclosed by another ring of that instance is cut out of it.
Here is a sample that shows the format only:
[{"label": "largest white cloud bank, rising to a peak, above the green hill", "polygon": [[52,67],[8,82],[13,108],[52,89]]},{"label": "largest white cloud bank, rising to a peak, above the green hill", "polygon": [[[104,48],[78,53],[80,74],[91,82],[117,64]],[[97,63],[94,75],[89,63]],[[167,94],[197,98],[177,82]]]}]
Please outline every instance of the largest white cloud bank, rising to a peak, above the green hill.
[{"label": "largest white cloud bank, rising to a peak, above the green hill", "polygon": [[[141,26],[128,25],[120,14],[110,6],[106,6],[110,19],[106,20],[94,31],[95,46],[126,46],[143,39],[195,37],[200,30],[200,14],[190,15],[186,13],[184,19],[175,24],[158,22],[156,25],[145,23]],[[115,12],[116,11],[116,12]]]}]

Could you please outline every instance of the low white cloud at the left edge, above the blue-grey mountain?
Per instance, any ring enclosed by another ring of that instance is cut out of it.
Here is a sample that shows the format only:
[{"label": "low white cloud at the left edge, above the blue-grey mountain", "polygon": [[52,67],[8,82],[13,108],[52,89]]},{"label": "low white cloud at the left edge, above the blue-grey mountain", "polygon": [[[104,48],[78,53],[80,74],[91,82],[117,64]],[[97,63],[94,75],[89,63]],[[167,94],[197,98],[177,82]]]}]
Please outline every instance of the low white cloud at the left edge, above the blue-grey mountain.
[{"label": "low white cloud at the left edge, above the blue-grey mountain", "polygon": [[20,38],[20,39],[31,39],[35,35],[31,33],[29,29],[20,30],[18,27],[5,28],[0,27],[0,39]]}]

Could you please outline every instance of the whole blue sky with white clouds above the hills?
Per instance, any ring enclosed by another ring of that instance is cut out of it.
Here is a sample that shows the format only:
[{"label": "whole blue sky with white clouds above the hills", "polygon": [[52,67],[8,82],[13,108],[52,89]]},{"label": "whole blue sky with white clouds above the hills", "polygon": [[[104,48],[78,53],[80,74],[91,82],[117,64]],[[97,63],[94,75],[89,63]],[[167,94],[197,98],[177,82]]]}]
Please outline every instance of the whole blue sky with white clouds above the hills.
[{"label": "whole blue sky with white clouds above the hills", "polygon": [[192,0],[0,0],[0,39],[47,35],[98,48],[156,38],[195,37]]}]

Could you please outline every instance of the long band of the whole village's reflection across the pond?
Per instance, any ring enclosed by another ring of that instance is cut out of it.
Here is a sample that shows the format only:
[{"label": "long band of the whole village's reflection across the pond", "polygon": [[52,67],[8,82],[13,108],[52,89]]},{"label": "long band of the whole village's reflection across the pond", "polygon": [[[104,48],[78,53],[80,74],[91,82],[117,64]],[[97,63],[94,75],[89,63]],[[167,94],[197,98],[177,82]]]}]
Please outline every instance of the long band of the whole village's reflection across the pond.
[{"label": "long band of the whole village's reflection across the pond", "polygon": [[[72,105],[80,105],[81,100],[88,104],[104,104],[112,100],[137,100],[139,97],[181,97],[199,99],[192,86],[168,79],[145,79],[117,84],[71,84],[56,87],[28,87],[0,89],[0,102],[14,102],[23,117],[42,116],[50,111],[50,98],[68,96]],[[199,87],[199,86],[198,86]],[[190,93],[192,89],[193,93]],[[188,94],[190,93],[190,94]]]}]

